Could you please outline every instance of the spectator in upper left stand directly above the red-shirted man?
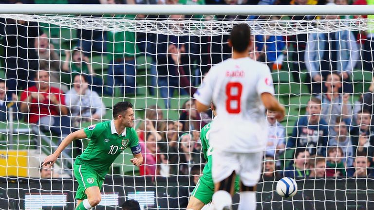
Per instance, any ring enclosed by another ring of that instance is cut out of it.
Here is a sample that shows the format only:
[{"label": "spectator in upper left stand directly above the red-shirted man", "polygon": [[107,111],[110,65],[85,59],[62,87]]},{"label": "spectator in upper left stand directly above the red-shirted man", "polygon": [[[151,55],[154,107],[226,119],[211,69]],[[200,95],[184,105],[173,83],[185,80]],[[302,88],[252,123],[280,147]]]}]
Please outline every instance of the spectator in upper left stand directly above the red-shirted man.
[{"label": "spectator in upper left stand directly above the red-shirted man", "polygon": [[61,84],[60,81],[60,58],[55,46],[50,43],[46,34],[42,34],[35,39],[35,49],[39,58],[39,69],[49,71],[51,86],[60,88],[64,92],[68,91],[68,87]]}]

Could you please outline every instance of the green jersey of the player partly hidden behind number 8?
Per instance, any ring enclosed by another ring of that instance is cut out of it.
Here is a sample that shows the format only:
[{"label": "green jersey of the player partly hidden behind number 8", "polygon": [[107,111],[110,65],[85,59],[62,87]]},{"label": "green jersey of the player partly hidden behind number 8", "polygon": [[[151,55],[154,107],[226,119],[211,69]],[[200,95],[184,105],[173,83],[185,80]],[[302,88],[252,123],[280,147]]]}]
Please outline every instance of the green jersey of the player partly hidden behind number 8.
[{"label": "green jersey of the player partly hidden behind number 8", "polygon": [[201,145],[203,147],[203,153],[204,157],[207,161],[204,170],[203,170],[203,176],[206,181],[213,182],[212,178],[212,151],[213,147],[209,145],[209,132],[210,132],[210,125],[211,123],[207,123],[200,132],[200,140]]}]

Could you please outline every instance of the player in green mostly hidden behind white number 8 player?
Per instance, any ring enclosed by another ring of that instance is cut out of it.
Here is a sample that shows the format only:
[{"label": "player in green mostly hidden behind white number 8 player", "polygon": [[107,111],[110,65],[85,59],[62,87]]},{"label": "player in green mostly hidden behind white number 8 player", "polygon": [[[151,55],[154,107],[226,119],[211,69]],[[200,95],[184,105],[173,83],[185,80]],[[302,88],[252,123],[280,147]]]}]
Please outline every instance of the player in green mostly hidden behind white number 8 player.
[{"label": "player in green mostly hidden behind white number 8 player", "polygon": [[[214,109],[214,105],[211,104],[210,108],[212,109],[214,116],[216,116],[217,114]],[[204,167],[203,175],[199,178],[199,182],[192,191],[187,205],[187,210],[201,210],[206,204],[209,204],[212,201],[212,196],[214,194],[214,181],[212,178],[213,147],[209,144],[210,125],[211,123],[206,124],[200,132],[201,145],[203,147],[203,153],[207,163]],[[240,177],[236,176],[234,187],[235,192],[239,192],[239,186]],[[213,205],[214,204],[211,204],[209,209],[214,209]]]}]

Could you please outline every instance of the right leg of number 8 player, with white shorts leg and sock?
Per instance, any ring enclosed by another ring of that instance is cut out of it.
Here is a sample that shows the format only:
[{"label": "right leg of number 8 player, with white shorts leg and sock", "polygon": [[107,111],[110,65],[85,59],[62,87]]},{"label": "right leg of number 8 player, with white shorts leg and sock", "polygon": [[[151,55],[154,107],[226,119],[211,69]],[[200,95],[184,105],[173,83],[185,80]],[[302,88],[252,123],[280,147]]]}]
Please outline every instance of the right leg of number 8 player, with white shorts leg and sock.
[{"label": "right leg of number 8 player, with white shorts leg and sock", "polygon": [[243,154],[239,157],[241,192],[238,210],[256,210],[256,186],[261,176],[262,152]]}]

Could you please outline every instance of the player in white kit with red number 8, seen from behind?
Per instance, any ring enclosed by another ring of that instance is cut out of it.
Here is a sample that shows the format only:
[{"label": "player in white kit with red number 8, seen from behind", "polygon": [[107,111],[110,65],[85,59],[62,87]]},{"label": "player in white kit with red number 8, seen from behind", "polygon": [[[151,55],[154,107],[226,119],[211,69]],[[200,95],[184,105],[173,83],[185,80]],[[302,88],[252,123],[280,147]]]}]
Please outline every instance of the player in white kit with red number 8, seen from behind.
[{"label": "player in white kit with red number 8, seen from behind", "polygon": [[229,45],[232,58],[211,68],[194,94],[199,112],[210,103],[220,116],[211,125],[212,177],[215,183],[213,203],[216,209],[231,209],[235,175],[241,178],[239,210],[256,209],[256,185],[267,140],[265,108],[284,117],[284,107],[273,96],[269,68],[248,57],[250,28],[233,27]]}]

